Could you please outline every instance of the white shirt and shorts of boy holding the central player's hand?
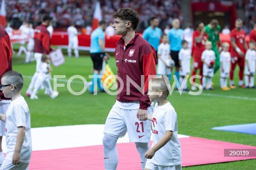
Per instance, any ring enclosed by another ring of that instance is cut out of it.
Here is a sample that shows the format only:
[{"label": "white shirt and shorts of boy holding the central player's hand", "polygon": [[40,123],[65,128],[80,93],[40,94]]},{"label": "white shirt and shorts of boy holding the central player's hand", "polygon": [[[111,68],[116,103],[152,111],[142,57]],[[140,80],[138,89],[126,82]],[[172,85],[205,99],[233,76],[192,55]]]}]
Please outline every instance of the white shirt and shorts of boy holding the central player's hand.
[{"label": "white shirt and shorts of boy holding the central player's hand", "polygon": [[178,138],[177,113],[169,102],[163,106],[158,106],[156,103],[152,115],[152,147],[164,137],[165,131],[173,131],[171,140],[157,150],[152,159],[147,159],[146,168],[162,169],[160,167],[163,167],[163,169],[181,169],[181,148]]}]

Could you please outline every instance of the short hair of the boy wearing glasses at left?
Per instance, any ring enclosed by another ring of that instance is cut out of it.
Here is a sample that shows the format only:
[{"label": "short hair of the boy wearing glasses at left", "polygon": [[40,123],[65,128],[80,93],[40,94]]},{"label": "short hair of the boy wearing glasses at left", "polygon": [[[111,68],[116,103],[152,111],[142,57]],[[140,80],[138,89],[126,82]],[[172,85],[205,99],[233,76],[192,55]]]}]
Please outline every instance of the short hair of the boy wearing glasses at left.
[{"label": "short hair of the boy wearing glasses at left", "polygon": [[23,87],[23,78],[18,71],[9,71],[2,75],[2,79],[5,78],[7,84],[13,84],[15,88],[20,91]]}]

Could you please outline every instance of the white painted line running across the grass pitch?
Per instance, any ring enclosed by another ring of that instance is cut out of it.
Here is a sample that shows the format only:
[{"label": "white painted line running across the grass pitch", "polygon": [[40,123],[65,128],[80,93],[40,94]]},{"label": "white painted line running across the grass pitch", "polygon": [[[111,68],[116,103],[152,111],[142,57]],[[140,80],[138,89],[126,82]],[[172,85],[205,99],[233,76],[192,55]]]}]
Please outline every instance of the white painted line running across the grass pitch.
[{"label": "white painted line running across the grass pitch", "polygon": [[[25,79],[31,79],[32,76],[30,75],[23,75],[23,78]],[[53,81],[53,79],[51,78],[51,80]],[[59,82],[68,82],[67,79],[58,79],[57,81]],[[84,82],[82,81],[76,81],[76,80],[72,80],[71,83],[78,83],[78,84],[84,84]],[[184,94],[188,94],[187,92]],[[230,99],[240,99],[240,100],[253,100],[256,101],[256,98],[252,98],[252,97],[242,97],[242,96],[227,96],[227,95],[219,95],[219,94],[200,94],[199,96],[211,96],[211,97],[222,97],[222,98],[230,98]]]}]

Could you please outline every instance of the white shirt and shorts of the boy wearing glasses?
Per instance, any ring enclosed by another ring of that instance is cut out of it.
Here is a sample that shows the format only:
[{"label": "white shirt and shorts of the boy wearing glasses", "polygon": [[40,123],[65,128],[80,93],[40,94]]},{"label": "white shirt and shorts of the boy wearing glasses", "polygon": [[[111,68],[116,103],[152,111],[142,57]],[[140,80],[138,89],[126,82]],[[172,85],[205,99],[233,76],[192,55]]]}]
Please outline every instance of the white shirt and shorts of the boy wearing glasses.
[{"label": "white shirt and shorts of the boy wearing glasses", "polygon": [[[26,128],[24,141],[21,148],[21,164],[13,165],[12,156],[17,142],[18,127]],[[7,153],[0,169],[28,169],[32,143],[30,132],[30,112],[25,99],[21,96],[11,101],[6,112],[6,145]]]}]

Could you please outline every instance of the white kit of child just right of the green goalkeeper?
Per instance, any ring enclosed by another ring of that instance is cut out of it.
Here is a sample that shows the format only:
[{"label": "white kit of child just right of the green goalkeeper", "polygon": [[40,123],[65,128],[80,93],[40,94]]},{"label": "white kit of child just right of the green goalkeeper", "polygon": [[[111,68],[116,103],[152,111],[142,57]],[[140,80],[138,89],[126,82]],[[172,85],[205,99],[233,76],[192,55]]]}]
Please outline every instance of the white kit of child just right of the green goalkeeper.
[{"label": "white kit of child just right of the green goalkeeper", "polygon": [[[221,52],[220,53],[220,77],[221,78],[229,78],[230,73],[230,62],[231,62],[231,56],[229,52]],[[222,71],[223,67],[223,71]]]}]

